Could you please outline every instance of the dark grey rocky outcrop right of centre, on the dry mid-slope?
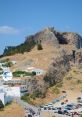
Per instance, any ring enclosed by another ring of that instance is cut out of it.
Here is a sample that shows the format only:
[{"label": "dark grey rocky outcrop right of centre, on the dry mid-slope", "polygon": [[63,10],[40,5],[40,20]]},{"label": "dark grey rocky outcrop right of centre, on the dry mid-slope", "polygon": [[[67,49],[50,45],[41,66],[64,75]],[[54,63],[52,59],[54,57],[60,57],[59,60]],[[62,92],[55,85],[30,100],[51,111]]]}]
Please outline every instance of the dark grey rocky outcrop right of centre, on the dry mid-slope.
[{"label": "dark grey rocky outcrop right of centre, on the dry mid-slope", "polygon": [[49,66],[49,70],[44,77],[44,81],[49,87],[53,86],[63,80],[63,77],[69,69],[69,56],[64,54],[63,56],[57,57]]}]

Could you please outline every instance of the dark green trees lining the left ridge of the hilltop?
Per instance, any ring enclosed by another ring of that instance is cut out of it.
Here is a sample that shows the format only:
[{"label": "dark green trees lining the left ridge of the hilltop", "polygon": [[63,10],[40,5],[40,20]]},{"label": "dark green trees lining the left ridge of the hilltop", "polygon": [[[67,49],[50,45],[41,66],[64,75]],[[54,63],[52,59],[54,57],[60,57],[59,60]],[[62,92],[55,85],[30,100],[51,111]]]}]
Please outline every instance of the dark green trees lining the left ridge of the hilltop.
[{"label": "dark green trees lining the left ridge of the hilltop", "polygon": [[17,53],[24,53],[24,52],[29,52],[34,46],[35,46],[35,41],[33,39],[33,36],[29,36],[26,38],[26,41],[18,46],[8,46],[5,47],[3,56],[10,56],[14,55]]}]

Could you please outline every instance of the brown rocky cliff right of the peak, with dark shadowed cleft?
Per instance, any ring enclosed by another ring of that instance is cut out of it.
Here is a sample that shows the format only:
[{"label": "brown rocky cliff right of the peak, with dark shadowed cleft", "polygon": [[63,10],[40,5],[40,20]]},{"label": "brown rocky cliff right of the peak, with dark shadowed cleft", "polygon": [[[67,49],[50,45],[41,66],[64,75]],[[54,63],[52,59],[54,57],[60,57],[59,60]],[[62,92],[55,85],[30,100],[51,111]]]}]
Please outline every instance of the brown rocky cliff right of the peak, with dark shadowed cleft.
[{"label": "brown rocky cliff right of the peak, with dark shadowed cleft", "polygon": [[60,44],[74,45],[77,49],[82,47],[82,37],[77,33],[72,32],[56,32],[54,31],[56,38]]}]

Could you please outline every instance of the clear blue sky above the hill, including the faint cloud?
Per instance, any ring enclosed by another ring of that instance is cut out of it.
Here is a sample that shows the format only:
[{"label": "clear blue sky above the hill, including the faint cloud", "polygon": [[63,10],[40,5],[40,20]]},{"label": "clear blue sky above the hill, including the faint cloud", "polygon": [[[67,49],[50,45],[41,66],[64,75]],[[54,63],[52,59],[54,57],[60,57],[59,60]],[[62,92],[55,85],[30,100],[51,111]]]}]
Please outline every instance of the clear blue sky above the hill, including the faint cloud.
[{"label": "clear blue sky above the hill, including the faint cloud", "polygon": [[52,26],[82,35],[82,0],[0,0],[0,54]]}]

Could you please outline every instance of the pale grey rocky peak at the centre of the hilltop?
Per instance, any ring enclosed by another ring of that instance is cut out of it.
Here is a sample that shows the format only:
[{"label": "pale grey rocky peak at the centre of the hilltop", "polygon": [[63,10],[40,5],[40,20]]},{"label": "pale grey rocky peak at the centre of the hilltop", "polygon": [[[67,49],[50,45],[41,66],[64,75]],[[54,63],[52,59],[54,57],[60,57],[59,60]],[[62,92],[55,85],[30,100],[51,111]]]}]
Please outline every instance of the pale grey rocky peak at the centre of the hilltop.
[{"label": "pale grey rocky peak at the centre of the hilltop", "polygon": [[43,31],[36,33],[34,36],[34,40],[36,42],[41,41],[42,44],[59,47],[58,39],[54,35],[53,31],[51,31],[51,28],[46,28]]}]

